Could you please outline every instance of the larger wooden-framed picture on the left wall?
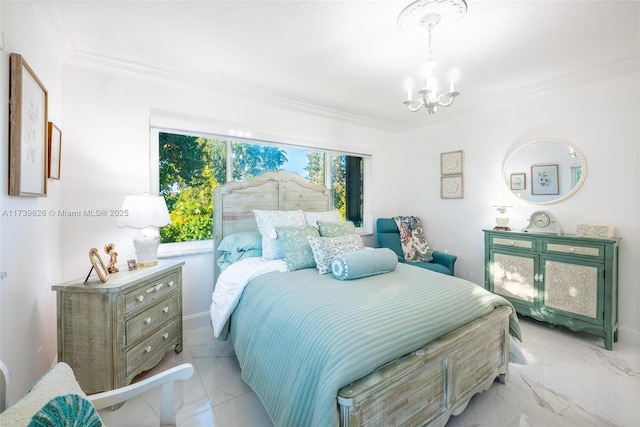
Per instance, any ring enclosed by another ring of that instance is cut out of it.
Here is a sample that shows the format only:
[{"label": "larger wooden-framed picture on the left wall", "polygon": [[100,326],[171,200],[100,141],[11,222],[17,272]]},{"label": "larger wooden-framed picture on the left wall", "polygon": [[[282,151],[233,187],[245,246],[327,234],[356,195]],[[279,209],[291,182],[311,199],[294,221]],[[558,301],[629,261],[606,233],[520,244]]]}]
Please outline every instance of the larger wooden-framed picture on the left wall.
[{"label": "larger wooden-framed picture on the left wall", "polygon": [[21,55],[11,54],[9,195],[47,195],[47,89]]}]

